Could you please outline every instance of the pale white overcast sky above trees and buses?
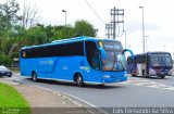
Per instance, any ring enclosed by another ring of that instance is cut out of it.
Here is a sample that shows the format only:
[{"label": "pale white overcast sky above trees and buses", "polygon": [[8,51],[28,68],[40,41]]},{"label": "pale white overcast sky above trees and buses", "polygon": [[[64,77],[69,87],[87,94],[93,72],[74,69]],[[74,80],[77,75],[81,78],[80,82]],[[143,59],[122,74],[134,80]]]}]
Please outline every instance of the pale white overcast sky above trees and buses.
[{"label": "pale white overcast sky above trees and buses", "polygon": [[[2,0],[4,1],[4,0]],[[142,53],[142,9],[147,51],[167,51],[174,56],[174,0],[16,0],[39,9],[39,23],[45,25],[74,25],[86,20],[98,29],[97,37],[105,38],[105,23],[111,22],[110,11],[114,7],[124,9],[126,48]],[[90,5],[90,7],[89,7]],[[92,9],[92,10],[91,10]],[[125,34],[116,37],[125,47]]]}]

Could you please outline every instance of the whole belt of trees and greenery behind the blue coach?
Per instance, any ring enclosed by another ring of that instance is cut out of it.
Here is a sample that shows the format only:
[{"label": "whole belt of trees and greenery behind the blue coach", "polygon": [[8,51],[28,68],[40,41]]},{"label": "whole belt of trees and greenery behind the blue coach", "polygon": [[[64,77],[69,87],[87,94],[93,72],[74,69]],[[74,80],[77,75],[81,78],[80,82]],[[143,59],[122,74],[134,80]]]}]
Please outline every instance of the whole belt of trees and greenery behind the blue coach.
[{"label": "whole belt of trees and greenery behind the blue coach", "polygon": [[74,26],[44,25],[39,23],[39,10],[32,3],[20,5],[15,0],[0,3],[0,65],[11,66],[18,59],[20,49],[73,38],[95,37],[97,29],[87,21],[76,21]]}]

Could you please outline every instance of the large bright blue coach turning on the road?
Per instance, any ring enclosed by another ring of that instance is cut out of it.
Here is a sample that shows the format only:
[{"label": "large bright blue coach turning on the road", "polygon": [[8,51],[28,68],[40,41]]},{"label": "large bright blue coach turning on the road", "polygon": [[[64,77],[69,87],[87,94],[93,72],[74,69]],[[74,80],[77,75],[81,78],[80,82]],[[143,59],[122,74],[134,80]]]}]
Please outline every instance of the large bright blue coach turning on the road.
[{"label": "large bright blue coach turning on the road", "polygon": [[111,39],[77,37],[21,49],[21,75],[37,79],[104,85],[125,81],[122,43]]}]

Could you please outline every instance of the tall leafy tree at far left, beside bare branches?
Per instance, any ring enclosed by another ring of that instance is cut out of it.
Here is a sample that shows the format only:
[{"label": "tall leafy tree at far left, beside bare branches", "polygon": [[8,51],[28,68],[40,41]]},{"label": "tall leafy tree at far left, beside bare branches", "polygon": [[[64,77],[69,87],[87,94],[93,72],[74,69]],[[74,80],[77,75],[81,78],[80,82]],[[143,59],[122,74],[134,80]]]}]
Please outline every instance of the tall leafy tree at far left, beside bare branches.
[{"label": "tall leafy tree at far left, beside bare branches", "polygon": [[18,10],[18,3],[15,0],[7,0],[5,3],[0,4],[0,52],[5,55],[9,55],[9,51],[15,43]]}]

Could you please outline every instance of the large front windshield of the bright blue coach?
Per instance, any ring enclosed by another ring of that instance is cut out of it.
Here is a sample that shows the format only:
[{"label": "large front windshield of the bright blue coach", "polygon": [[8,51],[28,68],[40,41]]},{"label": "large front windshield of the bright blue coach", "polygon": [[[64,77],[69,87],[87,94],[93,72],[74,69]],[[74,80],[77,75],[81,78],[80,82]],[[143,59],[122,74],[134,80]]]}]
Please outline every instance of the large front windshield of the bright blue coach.
[{"label": "large front windshield of the bright blue coach", "polygon": [[126,59],[122,54],[123,47],[120,41],[103,41],[107,56],[102,59],[102,71],[125,71]]}]

